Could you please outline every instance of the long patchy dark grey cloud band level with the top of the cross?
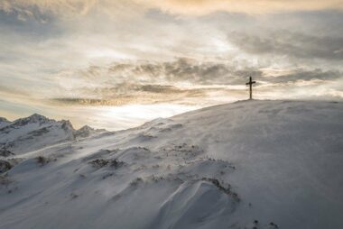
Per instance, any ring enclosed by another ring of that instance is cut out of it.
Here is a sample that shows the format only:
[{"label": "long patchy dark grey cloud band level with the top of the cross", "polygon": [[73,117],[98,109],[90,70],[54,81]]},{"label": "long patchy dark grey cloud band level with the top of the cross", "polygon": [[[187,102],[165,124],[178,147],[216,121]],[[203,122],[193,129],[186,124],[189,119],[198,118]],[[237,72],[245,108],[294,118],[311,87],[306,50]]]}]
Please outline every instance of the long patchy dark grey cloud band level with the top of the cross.
[{"label": "long patchy dark grey cloud band level with the top of the cross", "polygon": [[273,83],[297,79],[334,80],[341,78],[342,72],[320,68],[262,68],[246,62],[178,58],[171,61],[127,60],[107,66],[92,65],[86,69],[61,72],[55,78],[61,87],[69,89],[116,87],[118,93],[128,89],[157,93],[176,92],[178,86],[244,85],[248,77]]}]

